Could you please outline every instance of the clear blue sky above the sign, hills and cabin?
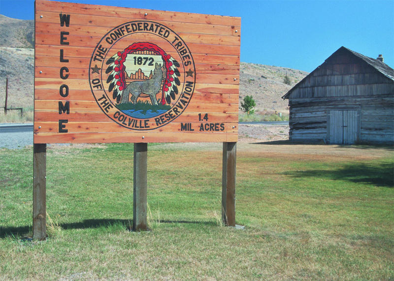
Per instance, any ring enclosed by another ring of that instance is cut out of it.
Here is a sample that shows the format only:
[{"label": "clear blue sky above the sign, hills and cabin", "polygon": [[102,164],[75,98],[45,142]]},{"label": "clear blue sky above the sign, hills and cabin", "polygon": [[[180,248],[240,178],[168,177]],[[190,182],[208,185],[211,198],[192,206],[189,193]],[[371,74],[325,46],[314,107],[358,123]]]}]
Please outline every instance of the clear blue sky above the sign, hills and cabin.
[{"label": "clear blue sky above the sign, hills and cabin", "polygon": [[[394,0],[64,0],[242,18],[241,62],[312,71],[339,47],[383,54],[394,68]],[[33,0],[0,0],[0,14],[33,19]]]}]

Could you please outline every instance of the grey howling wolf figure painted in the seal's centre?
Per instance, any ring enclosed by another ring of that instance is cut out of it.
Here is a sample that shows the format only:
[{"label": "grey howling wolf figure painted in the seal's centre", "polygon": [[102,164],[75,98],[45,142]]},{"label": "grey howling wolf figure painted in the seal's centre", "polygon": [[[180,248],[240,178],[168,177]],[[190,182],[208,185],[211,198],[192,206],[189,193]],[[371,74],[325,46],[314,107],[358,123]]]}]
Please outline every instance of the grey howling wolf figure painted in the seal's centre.
[{"label": "grey howling wolf figure painted in the seal's centre", "polygon": [[140,94],[147,94],[151,99],[151,103],[157,105],[156,94],[159,92],[162,86],[163,70],[162,65],[155,63],[155,70],[151,79],[144,81],[131,82],[123,91],[121,103],[129,102],[129,96],[131,94],[131,101],[136,102]]}]

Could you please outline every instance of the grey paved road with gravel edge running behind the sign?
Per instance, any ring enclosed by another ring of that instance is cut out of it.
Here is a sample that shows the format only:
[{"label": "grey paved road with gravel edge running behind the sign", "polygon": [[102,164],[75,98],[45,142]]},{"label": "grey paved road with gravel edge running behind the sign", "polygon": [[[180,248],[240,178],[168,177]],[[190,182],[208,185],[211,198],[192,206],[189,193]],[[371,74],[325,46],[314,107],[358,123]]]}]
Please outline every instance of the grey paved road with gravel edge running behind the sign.
[{"label": "grey paved road with gravel edge running behind the sign", "polygon": [[[289,121],[240,122],[239,124],[289,125]],[[33,144],[33,124],[0,124],[0,148],[17,149]]]}]

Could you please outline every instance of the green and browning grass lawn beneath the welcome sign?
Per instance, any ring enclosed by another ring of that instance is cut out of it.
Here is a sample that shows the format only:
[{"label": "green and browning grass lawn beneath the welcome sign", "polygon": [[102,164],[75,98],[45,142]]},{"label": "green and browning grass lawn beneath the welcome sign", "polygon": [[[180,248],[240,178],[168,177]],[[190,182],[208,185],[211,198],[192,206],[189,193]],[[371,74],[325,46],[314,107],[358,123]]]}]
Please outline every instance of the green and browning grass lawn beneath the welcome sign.
[{"label": "green and browning grass lawn beneath the welcome sign", "polygon": [[1,149],[0,279],[394,278],[393,148],[238,143],[236,230],[221,144],[150,144],[148,232],[128,230],[132,149],[48,147],[45,242],[33,149]]}]

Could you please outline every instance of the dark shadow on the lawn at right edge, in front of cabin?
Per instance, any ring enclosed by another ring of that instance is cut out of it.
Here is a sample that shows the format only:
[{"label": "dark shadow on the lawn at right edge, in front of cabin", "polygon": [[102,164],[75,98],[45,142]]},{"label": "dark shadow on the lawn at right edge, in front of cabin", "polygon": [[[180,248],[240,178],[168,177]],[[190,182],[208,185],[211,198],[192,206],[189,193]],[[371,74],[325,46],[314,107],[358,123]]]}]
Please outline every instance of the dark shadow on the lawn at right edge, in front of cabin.
[{"label": "dark shadow on the lawn at right edge, in front of cabin", "polygon": [[333,171],[288,171],[283,174],[295,178],[326,178],[330,180],[369,184],[378,187],[394,187],[394,165],[392,162],[381,162],[377,164],[354,163],[345,164]]}]

